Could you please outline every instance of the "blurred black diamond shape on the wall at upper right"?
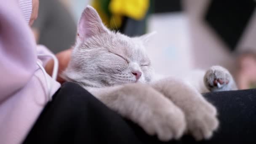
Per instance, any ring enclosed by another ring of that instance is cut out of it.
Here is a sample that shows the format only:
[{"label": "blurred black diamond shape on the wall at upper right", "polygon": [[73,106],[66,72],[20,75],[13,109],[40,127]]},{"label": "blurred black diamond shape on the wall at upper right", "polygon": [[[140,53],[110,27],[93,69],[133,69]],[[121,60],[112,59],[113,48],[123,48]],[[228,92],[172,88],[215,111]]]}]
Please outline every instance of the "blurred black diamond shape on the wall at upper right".
[{"label": "blurred black diamond shape on the wall at upper right", "polygon": [[205,19],[234,51],[255,9],[255,0],[211,0]]}]

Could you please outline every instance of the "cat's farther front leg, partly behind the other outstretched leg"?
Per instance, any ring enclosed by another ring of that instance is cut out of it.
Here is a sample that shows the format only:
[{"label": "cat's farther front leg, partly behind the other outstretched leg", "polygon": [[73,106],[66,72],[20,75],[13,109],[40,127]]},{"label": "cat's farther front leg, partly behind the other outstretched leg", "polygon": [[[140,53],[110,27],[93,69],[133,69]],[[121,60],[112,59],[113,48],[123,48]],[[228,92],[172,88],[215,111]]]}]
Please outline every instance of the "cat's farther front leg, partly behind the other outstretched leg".
[{"label": "cat's farther front leg, partly behind the other outstretched leg", "polygon": [[171,77],[152,82],[151,85],[182,109],[187,121],[187,131],[195,139],[208,139],[218,128],[216,108],[195,87]]}]

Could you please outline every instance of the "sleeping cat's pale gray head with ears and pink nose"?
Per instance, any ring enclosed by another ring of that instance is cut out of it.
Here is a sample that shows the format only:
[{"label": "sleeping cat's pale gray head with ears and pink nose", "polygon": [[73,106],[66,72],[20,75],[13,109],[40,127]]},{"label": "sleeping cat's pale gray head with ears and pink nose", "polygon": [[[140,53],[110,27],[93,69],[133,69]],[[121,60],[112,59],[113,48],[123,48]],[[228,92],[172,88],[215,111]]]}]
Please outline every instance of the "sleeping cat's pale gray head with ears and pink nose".
[{"label": "sleeping cat's pale gray head with ears and pink nose", "polygon": [[149,82],[153,75],[145,44],[151,34],[128,37],[112,32],[91,6],[82,13],[76,45],[64,79],[104,87]]}]

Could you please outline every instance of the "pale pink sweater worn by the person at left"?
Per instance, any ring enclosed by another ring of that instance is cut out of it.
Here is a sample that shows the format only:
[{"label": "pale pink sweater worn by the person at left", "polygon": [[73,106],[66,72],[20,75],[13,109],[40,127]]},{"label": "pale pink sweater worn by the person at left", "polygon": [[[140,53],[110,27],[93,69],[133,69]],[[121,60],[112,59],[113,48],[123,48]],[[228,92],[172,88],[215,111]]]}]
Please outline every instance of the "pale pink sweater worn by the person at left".
[{"label": "pale pink sweater worn by the person at left", "polygon": [[[47,59],[38,59],[37,54],[50,51],[36,45],[25,21],[32,3],[23,1],[28,3],[21,11],[18,0],[0,0],[0,144],[21,143],[49,99],[37,66],[37,61],[44,65]],[[60,84],[49,75],[47,79],[53,95]]]}]

